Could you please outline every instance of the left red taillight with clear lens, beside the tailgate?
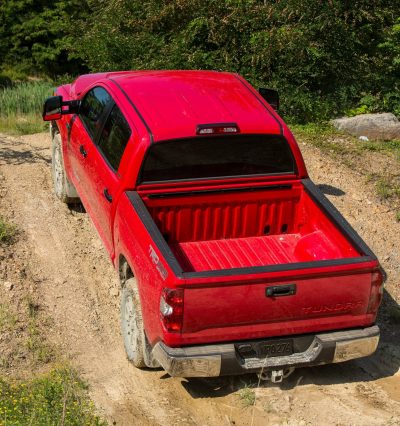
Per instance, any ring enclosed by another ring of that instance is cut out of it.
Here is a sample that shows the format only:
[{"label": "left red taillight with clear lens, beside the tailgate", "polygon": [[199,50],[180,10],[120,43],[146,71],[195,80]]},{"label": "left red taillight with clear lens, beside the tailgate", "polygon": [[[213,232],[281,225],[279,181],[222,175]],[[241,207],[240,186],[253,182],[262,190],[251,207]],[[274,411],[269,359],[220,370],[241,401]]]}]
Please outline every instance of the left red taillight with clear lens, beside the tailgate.
[{"label": "left red taillight with clear lens, beside the tailgate", "polygon": [[171,333],[182,331],[183,289],[163,289],[160,298],[160,315],[167,331]]}]

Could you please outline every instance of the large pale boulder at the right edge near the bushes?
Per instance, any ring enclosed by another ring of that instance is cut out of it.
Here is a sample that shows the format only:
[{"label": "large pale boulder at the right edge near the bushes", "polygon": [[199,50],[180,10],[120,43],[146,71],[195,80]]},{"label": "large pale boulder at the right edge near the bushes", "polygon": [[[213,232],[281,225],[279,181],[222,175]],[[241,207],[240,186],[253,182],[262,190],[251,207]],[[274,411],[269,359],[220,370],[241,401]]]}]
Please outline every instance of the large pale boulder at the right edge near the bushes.
[{"label": "large pale boulder at the right edge near the bushes", "polygon": [[333,126],[353,136],[368,139],[400,139],[400,121],[391,113],[361,114],[332,120]]}]

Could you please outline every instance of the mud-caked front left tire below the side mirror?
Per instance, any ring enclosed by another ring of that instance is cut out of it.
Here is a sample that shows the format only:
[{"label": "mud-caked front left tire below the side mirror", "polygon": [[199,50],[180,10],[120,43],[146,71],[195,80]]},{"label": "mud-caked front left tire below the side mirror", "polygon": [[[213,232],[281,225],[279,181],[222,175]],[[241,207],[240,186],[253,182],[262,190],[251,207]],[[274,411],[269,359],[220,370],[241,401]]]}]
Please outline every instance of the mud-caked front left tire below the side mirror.
[{"label": "mud-caked front left tire below the side mirror", "polygon": [[53,176],[54,193],[56,197],[66,204],[79,202],[75,187],[69,182],[64,168],[64,159],[61,147],[61,136],[55,133],[51,144],[51,172]]}]

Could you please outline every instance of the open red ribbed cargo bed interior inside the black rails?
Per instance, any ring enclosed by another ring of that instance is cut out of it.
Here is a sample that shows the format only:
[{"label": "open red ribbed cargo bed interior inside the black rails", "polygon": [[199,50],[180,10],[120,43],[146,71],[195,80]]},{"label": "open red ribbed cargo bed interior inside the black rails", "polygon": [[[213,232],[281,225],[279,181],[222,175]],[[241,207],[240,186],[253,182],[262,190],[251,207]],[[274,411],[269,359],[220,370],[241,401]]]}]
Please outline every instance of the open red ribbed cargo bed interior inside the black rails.
[{"label": "open red ribbed cargo bed interior inside the black rails", "polygon": [[144,201],[184,272],[360,256],[298,182]]}]

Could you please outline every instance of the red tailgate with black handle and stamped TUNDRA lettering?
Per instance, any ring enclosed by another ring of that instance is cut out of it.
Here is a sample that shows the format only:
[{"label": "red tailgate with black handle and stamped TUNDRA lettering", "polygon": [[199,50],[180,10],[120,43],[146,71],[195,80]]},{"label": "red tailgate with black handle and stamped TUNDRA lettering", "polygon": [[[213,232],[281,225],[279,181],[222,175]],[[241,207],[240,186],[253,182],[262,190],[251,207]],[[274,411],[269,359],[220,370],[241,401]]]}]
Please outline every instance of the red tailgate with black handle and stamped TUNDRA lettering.
[{"label": "red tailgate with black handle and stamped TUNDRA lettering", "polygon": [[370,293],[370,272],[270,283],[189,284],[183,333],[226,328],[228,337],[228,328],[250,327],[258,335],[276,336],[361,326],[371,321],[367,314]]}]

